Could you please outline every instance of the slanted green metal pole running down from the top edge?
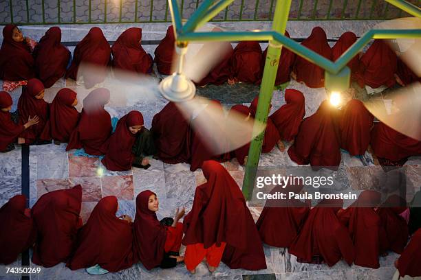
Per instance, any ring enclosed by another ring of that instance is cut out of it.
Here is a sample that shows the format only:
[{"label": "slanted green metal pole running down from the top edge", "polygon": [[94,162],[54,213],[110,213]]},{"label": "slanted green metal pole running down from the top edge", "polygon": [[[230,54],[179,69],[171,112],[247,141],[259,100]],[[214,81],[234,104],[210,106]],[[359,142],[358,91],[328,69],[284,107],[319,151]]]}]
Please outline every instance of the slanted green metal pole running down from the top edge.
[{"label": "slanted green metal pole running down from the top edge", "polygon": [[[274,19],[272,29],[280,34],[285,34],[285,29],[290,14],[291,0],[278,0],[275,6]],[[261,80],[259,104],[257,105],[257,113],[255,119],[266,124],[268,121],[269,106],[272,100],[272,92],[274,88],[275,78],[277,77],[279,57],[281,56],[282,45],[275,41],[269,41],[268,55],[266,56],[265,68],[263,70],[263,78]],[[253,128],[257,131],[257,125]],[[246,165],[246,172],[244,174],[243,194],[246,200],[252,198],[253,188],[255,185],[255,178],[257,167],[259,165],[261,145],[263,144],[263,137],[265,132],[255,137],[250,144],[248,151],[248,159]]]}]

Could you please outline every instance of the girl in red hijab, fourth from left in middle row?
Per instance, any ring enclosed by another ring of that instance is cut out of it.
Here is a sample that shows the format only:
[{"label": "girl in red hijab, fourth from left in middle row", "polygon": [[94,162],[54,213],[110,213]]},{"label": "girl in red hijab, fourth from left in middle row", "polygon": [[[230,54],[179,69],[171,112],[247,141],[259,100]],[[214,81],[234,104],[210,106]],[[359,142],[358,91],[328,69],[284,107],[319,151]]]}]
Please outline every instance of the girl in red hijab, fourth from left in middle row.
[{"label": "girl in red hijab, fourth from left in middle row", "polygon": [[104,109],[109,102],[109,90],[94,89],[83,100],[83,110],[76,129],[72,132],[66,150],[83,148],[85,152],[100,156],[100,148],[110,137],[111,116]]}]

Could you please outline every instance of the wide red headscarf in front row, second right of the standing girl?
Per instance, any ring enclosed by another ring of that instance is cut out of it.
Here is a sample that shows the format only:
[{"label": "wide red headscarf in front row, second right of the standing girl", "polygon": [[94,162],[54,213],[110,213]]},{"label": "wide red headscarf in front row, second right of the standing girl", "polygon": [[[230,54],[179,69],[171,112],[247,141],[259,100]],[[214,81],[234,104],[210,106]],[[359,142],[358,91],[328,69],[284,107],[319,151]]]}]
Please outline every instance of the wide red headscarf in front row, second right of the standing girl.
[{"label": "wide red headscarf in front row, second right of the standing girl", "polygon": [[342,205],[343,200],[319,202],[310,210],[288,252],[309,263],[313,256],[320,255],[328,266],[333,266],[343,258],[350,266],[354,261],[354,246],[347,229],[336,217]]}]

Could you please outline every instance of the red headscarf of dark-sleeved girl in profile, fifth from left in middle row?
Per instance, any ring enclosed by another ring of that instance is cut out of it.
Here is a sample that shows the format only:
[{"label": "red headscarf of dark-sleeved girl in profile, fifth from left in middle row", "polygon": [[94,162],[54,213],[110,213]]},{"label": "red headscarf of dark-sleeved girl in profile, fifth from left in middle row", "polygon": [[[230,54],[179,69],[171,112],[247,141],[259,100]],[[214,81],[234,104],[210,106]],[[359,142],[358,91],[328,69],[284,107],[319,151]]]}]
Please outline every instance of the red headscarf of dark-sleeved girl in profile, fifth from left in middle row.
[{"label": "red headscarf of dark-sleeved girl in profile, fifth from left in middle row", "polygon": [[136,141],[136,135],[130,132],[130,126],[143,126],[142,113],[132,110],[118,120],[116,131],[104,143],[101,150],[105,152],[105,158],[101,163],[107,170],[125,171],[131,169],[134,154],[131,152]]}]

